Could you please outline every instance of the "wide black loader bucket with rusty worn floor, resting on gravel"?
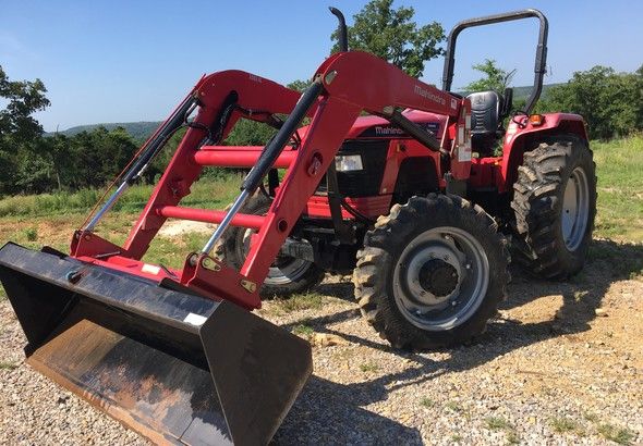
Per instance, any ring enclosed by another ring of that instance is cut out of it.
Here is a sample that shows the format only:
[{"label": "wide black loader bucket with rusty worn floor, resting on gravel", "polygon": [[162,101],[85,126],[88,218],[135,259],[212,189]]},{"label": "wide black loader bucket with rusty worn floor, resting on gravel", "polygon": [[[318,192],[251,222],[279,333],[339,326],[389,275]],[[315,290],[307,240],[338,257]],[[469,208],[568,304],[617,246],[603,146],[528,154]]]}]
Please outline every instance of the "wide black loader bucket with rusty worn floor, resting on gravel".
[{"label": "wide black loader bucket with rusty worn floor, resting on gravel", "polygon": [[235,305],[49,248],[0,249],[27,362],[161,444],[266,444],[312,372],[310,345]]}]

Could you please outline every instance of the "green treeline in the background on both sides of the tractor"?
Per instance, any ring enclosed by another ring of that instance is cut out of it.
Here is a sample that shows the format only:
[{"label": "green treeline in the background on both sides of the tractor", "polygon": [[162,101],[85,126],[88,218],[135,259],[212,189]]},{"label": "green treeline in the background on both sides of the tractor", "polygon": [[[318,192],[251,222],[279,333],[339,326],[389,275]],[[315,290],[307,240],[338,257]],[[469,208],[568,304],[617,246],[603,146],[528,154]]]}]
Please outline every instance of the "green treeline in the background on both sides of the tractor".
[{"label": "green treeline in the background on both sides of the tractor", "polygon": [[[32,114],[49,106],[46,91],[40,80],[9,80],[0,66],[0,98],[8,101],[0,111],[0,196],[104,187],[143,143],[123,128],[44,136]],[[536,111],[583,115],[592,139],[641,132],[643,66],[634,73],[617,73],[605,66],[577,72],[567,84],[550,88]],[[274,132],[264,124],[242,120],[227,144],[263,145]],[[181,135],[179,132],[170,140],[144,181],[153,182],[162,173]]]}]

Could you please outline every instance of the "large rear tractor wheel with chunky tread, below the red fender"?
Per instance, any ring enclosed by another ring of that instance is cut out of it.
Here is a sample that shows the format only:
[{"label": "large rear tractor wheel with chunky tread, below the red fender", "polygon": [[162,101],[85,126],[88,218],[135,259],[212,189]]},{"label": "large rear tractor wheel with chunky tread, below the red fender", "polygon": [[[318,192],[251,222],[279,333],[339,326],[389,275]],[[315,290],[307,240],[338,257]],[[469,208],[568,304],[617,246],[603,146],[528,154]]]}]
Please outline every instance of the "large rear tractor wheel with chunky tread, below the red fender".
[{"label": "large rear tractor wheel with chunky tread, below the red fender", "polygon": [[519,263],[544,278],[581,271],[596,215],[596,164],[586,141],[562,135],[525,152],[511,208]]}]

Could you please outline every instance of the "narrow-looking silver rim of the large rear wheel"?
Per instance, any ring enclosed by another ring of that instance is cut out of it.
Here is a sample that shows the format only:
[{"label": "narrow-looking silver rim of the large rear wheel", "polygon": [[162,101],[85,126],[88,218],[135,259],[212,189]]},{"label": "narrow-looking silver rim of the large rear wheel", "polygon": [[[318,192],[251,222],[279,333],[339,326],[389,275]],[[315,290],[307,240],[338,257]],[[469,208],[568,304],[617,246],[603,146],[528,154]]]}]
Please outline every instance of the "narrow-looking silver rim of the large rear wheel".
[{"label": "narrow-looking silver rim of the large rear wheel", "polygon": [[575,168],[565,186],[560,225],[565,246],[575,251],[585,238],[590,216],[590,187],[582,168]]}]

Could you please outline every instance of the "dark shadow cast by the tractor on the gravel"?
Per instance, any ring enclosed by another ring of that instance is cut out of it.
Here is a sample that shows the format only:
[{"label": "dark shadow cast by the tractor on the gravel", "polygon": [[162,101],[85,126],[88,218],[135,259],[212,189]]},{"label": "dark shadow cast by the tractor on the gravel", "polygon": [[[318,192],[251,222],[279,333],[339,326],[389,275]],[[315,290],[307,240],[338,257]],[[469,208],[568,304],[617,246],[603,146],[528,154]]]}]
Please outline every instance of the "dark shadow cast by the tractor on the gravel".
[{"label": "dark shadow cast by the tractor on the gravel", "polygon": [[[509,299],[501,305],[500,310],[521,307],[543,296],[562,295],[563,305],[556,311],[555,318],[536,323],[496,319],[476,344],[449,349],[450,358],[444,361],[397,351],[400,357],[411,360],[414,367],[367,382],[336,384],[313,376],[277,433],[276,443],[422,444],[416,429],[404,426],[363,407],[385,400],[391,389],[430,381],[446,373],[470,370],[498,356],[560,335],[584,332],[590,329],[590,322],[596,317],[595,310],[600,307],[609,286],[616,281],[642,273],[643,245],[611,240],[594,240],[585,269],[567,282],[533,278],[514,268]],[[325,284],[317,290],[352,299],[352,284]],[[306,323],[318,333],[335,334],[351,343],[396,351],[386,344],[328,327],[329,324],[353,318],[360,318],[359,310],[345,310],[307,320]]]}]

